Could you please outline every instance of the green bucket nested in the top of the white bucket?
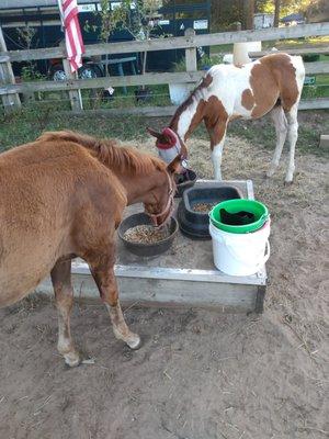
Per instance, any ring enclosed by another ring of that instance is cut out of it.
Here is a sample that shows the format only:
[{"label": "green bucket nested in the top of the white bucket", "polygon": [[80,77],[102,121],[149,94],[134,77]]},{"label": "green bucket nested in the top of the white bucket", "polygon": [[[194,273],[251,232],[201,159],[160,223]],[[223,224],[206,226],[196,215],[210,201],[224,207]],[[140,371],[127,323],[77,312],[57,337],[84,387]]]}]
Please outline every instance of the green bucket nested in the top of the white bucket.
[{"label": "green bucket nested in the top of the white bucket", "polygon": [[[230,214],[239,213],[241,211],[248,212],[254,215],[254,221],[250,224],[243,225],[230,225],[222,222],[220,210],[224,209]],[[219,204],[216,204],[209,212],[209,218],[212,224],[220,230],[234,233],[234,234],[247,234],[256,232],[261,228],[269,219],[268,207],[256,200],[227,200]]]}]

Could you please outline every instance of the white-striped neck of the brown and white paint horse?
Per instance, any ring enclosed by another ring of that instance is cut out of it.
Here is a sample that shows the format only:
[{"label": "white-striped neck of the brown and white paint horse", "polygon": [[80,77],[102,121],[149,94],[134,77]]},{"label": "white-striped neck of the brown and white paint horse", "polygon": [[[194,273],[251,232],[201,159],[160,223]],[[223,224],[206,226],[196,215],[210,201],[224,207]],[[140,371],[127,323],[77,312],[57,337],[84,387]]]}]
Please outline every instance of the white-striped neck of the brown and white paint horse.
[{"label": "white-striped neck of the brown and white paint horse", "polygon": [[189,105],[184,105],[183,103],[178,108],[169,127],[174,131],[181,139],[185,140],[202,122],[203,116],[204,102],[193,99]]}]

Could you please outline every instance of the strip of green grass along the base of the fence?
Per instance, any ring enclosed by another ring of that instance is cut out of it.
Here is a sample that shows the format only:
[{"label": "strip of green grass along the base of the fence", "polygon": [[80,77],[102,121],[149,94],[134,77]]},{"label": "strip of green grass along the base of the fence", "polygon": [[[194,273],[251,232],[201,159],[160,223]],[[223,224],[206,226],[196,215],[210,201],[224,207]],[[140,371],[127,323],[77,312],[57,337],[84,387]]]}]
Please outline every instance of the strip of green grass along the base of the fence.
[{"label": "strip of green grass along the base of the fence", "polygon": [[[0,150],[34,140],[43,131],[76,130],[99,137],[115,137],[122,140],[148,138],[146,127],[161,128],[168,119],[138,115],[114,117],[112,115],[88,114],[71,116],[63,112],[63,105],[29,105],[22,111],[0,116]],[[329,156],[329,150],[318,148],[320,134],[329,134],[329,111],[299,112],[299,137],[297,149],[300,154]],[[245,138],[256,147],[273,149],[275,132],[269,117],[259,121],[236,121],[229,124],[228,135]],[[204,126],[200,126],[195,137],[208,138]]]}]

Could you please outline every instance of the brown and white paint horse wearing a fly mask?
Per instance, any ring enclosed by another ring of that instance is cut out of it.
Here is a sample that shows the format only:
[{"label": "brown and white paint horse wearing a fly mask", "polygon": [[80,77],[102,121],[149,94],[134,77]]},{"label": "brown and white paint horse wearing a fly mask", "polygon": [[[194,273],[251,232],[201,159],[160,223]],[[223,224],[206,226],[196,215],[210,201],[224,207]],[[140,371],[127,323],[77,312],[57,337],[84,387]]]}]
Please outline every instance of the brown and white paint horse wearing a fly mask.
[{"label": "brown and white paint horse wearing a fly mask", "polygon": [[286,182],[293,180],[297,142],[297,109],[305,77],[302,57],[271,54],[240,67],[213,66],[201,83],[174,113],[162,133],[148,128],[161,145],[173,145],[186,154],[184,142],[204,121],[211,137],[215,179],[222,180],[220,165],[228,122],[259,119],[271,112],[275,124],[276,147],[268,177],[279,165],[282,148],[290,142]]}]

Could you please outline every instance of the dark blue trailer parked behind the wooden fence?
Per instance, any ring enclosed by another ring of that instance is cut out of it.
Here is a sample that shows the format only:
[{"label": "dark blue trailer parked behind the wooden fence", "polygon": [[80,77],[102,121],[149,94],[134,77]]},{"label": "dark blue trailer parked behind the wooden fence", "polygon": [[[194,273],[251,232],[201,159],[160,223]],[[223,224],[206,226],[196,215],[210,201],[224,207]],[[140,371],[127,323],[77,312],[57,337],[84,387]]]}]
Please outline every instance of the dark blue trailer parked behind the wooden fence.
[{"label": "dark blue trailer parked behind the wooden fence", "polygon": [[[115,8],[118,0],[109,0],[110,8]],[[154,37],[181,36],[188,27],[195,30],[196,34],[209,33],[211,21],[211,0],[163,0],[162,8],[159,9],[158,26],[155,27]],[[78,0],[79,21],[86,45],[100,42],[100,0]],[[88,25],[87,25],[88,23]],[[55,47],[64,40],[60,29],[60,19],[57,0],[1,0],[0,1],[0,25],[2,26],[5,43],[9,50]],[[21,35],[20,30],[29,27],[34,30],[34,35],[30,38],[29,47],[26,41]],[[133,36],[125,30],[115,31],[110,42],[124,42],[133,40]],[[206,50],[198,50],[203,54]],[[133,55],[137,58],[138,54]],[[147,69],[149,71],[166,71],[178,63],[184,50],[162,50],[150,52],[148,55]],[[120,54],[115,55],[116,58]],[[59,60],[41,60],[37,68],[43,75],[50,77],[58,69]],[[87,59],[90,63],[90,60]],[[23,64],[14,63],[15,75],[20,75]],[[94,67],[97,70],[97,67]],[[126,68],[129,68],[127,64]],[[100,72],[98,72],[99,76]],[[116,71],[112,71],[113,75]]]}]

